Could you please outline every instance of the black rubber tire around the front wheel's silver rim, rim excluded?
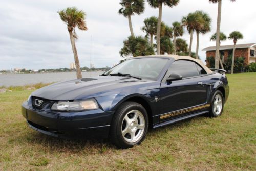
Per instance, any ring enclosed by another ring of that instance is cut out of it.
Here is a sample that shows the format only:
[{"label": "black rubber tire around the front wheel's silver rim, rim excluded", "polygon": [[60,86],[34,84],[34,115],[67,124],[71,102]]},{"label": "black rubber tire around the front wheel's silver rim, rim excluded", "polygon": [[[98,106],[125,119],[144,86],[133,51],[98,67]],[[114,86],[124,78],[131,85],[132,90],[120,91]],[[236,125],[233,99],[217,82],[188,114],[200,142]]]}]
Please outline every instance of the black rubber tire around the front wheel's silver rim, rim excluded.
[{"label": "black rubber tire around the front wheel's silver rim, rim excluded", "polygon": [[[147,112],[142,105],[135,103],[135,102],[127,102],[124,104],[123,108],[121,108],[121,109],[122,109],[121,111],[117,110],[117,112],[116,112],[118,117],[117,117],[117,121],[115,123],[116,124],[116,127],[115,127],[116,128],[116,136],[117,136],[117,139],[119,140],[119,145],[122,147],[125,147],[125,148],[130,148],[134,145],[139,145],[145,139],[147,129],[148,129]],[[121,133],[123,118],[131,110],[139,110],[145,119],[145,129],[143,131],[143,135],[140,137],[140,139],[138,141],[133,142],[133,143],[129,143],[129,142],[125,141],[125,139],[123,138],[122,133]]]}]

